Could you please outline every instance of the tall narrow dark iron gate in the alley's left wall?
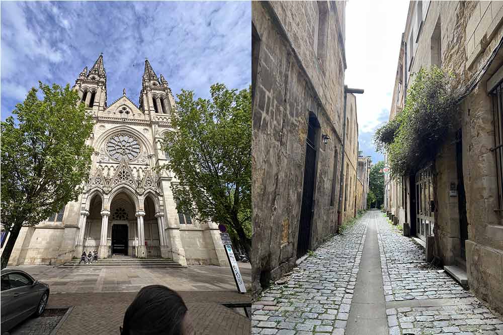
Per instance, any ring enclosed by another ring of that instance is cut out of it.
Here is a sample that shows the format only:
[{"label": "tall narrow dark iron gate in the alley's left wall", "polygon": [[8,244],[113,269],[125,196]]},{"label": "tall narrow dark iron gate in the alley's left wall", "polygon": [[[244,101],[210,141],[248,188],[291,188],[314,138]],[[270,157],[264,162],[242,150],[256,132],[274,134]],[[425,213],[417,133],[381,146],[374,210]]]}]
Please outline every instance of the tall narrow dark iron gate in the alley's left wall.
[{"label": "tall narrow dark iron gate in the alley's left wall", "polygon": [[314,177],[316,175],[316,128],[309,120],[306,139],[306,162],[304,167],[304,187],[302,190],[302,205],[300,208],[299,238],[297,242],[297,257],[303,256],[309,249],[311,237],[311,219],[313,211]]}]

